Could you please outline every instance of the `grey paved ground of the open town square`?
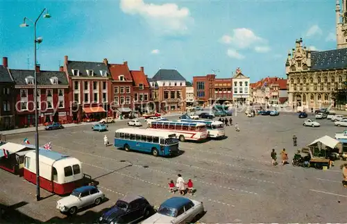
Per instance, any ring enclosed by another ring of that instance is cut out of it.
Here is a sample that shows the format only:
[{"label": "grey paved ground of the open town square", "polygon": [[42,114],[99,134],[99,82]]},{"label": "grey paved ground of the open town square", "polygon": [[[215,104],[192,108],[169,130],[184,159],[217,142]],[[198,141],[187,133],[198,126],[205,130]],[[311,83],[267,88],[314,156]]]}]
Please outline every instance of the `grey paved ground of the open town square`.
[{"label": "grey paved ground of the open town square", "polygon": [[[344,128],[335,127],[329,120],[319,121],[320,128],[303,127],[303,119],[291,113],[254,118],[239,114],[232,119],[239,124],[240,132],[228,126],[227,139],[180,143],[184,153],[173,158],[105,147],[105,132],[93,132],[90,126],[40,132],[40,145],[51,141],[53,150],[81,160],[83,173],[98,180],[99,187],[109,198],[98,207],[80,212],[74,222],[91,222],[97,218],[97,212],[130,193],[143,195],[153,205],[160,205],[172,196],[168,182],[176,181],[178,173],[185,181],[193,180],[196,193],[187,197],[204,203],[207,211],[201,218],[204,223],[346,221],[347,193],[341,185],[338,165],[328,171],[291,165],[273,167],[270,158],[272,148],[276,148],[277,153],[286,148],[291,160],[298,149],[292,144],[294,134],[298,137],[298,146],[303,147],[323,135],[333,137]],[[111,124],[106,132],[108,139],[112,140],[114,131],[124,126],[125,122]],[[34,141],[33,133],[10,135],[8,141],[21,143],[25,137]],[[6,198],[9,205],[25,201],[28,204],[18,209],[40,221],[65,217],[55,209],[59,196],[50,196],[42,190],[47,198],[37,203],[35,185],[4,171],[0,171],[0,175],[1,197]]]}]

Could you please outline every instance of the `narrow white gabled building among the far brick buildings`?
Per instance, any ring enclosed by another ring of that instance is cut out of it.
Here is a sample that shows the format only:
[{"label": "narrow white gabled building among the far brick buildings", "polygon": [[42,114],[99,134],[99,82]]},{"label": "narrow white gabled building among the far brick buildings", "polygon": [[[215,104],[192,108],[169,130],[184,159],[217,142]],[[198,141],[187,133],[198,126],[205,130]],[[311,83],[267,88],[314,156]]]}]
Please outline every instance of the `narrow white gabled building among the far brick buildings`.
[{"label": "narrow white gabled building among the far brick buildings", "polygon": [[232,100],[235,103],[249,103],[250,94],[250,79],[237,68],[232,77]]}]

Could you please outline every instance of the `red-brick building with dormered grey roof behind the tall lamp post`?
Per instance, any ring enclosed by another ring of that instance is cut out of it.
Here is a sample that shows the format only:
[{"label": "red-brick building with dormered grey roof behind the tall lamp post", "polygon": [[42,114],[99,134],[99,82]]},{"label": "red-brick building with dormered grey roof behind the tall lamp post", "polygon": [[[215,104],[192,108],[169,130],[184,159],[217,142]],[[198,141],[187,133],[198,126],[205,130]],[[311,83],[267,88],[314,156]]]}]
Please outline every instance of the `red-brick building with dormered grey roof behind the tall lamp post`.
[{"label": "red-brick building with dormered grey roof behind the tall lamp post", "polygon": [[[15,81],[16,126],[35,126],[34,71],[10,69]],[[63,71],[41,71],[37,73],[38,123],[70,123],[69,82]]]}]

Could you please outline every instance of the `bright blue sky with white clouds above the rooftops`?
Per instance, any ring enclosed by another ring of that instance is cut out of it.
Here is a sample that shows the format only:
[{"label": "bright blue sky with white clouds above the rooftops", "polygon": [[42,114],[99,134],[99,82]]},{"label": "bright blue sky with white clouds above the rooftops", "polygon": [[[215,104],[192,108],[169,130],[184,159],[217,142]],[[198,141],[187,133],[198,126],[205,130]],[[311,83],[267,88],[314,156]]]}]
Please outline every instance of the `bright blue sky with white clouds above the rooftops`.
[{"label": "bright blue sky with white clouds above the rooftops", "polygon": [[[40,19],[37,49],[42,69],[58,70],[69,60],[128,61],[152,77],[178,69],[187,80],[237,67],[257,81],[285,77],[285,59],[295,40],[312,49],[336,48],[335,1],[6,1],[0,0],[0,57],[10,68],[33,67],[33,28],[24,17]],[[60,61],[60,62],[59,62]]]}]

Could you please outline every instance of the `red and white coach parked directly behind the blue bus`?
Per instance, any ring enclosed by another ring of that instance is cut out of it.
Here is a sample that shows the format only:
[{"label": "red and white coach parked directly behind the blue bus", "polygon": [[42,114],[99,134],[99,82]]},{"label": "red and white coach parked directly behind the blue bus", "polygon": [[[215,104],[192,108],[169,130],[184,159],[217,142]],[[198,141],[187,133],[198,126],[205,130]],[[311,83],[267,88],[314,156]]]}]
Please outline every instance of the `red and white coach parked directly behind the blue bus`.
[{"label": "red and white coach parked directly behind the blue bus", "polygon": [[179,121],[152,121],[149,130],[164,130],[175,133],[180,141],[201,141],[208,137],[205,123]]}]

